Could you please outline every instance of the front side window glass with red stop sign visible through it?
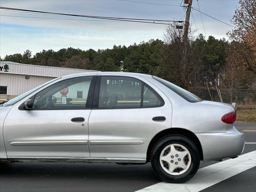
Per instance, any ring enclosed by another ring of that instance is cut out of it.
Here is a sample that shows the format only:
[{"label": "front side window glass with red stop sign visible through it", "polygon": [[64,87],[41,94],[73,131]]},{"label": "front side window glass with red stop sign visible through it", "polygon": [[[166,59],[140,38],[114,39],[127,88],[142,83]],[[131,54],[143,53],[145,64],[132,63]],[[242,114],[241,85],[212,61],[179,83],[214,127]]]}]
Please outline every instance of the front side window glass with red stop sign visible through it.
[{"label": "front side window glass with red stop sign visible through it", "polygon": [[92,76],[67,79],[53,84],[35,95],[33,109],[85,109],[91,82]]}]

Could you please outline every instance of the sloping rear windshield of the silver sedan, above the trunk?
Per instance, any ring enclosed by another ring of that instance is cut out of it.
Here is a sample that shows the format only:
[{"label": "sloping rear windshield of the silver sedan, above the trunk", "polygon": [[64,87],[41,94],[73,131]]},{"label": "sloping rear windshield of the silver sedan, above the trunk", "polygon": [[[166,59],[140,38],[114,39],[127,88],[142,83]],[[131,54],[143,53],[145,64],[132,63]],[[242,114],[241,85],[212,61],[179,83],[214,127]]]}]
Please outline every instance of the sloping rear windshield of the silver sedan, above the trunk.
[{"label": "sloping rear windshield of the silver sedan, above the trunk", "polygon": [[200,99],[198,96],[195,96],[194,94],[188,92],[187,90],[184,90],[182,88],[180,88],[179,86],[168,82],[164,79],[161,79],[159,77],[156,76],[152,76],[155,80],[159,81],[160,83],[164,84],[166,87],[170,88],[171,90],[173,90],[174,92],[176,92],[179,96],[183,97],[184,99],[186,99],[189,102],[200,102],[202,101],[202,99]]}]

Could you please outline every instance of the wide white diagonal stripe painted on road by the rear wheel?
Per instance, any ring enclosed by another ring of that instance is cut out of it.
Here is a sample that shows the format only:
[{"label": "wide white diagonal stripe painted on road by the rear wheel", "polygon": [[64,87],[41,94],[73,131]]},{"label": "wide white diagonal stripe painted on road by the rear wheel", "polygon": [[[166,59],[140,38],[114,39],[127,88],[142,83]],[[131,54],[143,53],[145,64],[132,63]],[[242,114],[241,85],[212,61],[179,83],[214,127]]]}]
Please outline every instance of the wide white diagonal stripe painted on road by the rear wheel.
[{"label": "wide white diagonal stripe painted on road by the rear wheel", "polygon": [[160,182],[137,192],[198,192],[256,166],[256,151],[222,161],[198,170],[183,184]]}]

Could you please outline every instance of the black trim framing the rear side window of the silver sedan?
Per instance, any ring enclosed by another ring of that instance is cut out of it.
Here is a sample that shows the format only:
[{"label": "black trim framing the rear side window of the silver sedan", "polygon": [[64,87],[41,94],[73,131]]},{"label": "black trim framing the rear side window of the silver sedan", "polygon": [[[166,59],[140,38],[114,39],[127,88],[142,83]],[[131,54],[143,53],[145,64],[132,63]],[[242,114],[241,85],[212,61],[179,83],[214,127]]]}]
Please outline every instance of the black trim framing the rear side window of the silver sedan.
[{"label": "black trim framing the rear side window of the silver sedan", "polygon": [[[141,82],[141,96],[140,96],[140,100],[142,102],[140,102],[140,106],[139,107],[113,107],[113,108],[99,108],[99,98],[100,98],[100,83],[101,83],[101,78],[102,77],[126,77],[126,78],[132,78],[135,80],[138,80]],[[144,85],[146,85],[160,100],[161,104],[159,106],[145,106],[143,107],[143,90],[144,90]],[[96,110],[106,110],[106,109],[140,109],[140,108],[158,108],[158,107],[162,107],[164,106],[164,100],[163,98],[158,94],[158,92],[156,92],[156,90],[154,90],[151,86],[149,86],[148,84],[146,84],[144,81],[140,80],[139,78],[136,77],[130,77],[130,76],[119,76],[119,75],[99,75],[97,76],[97,81],[96,81],[96,86],[95,86],[95,91],[94,91],[94,98],[93,98],[93,103],[92,103],[92,109],[96,109]]]}]

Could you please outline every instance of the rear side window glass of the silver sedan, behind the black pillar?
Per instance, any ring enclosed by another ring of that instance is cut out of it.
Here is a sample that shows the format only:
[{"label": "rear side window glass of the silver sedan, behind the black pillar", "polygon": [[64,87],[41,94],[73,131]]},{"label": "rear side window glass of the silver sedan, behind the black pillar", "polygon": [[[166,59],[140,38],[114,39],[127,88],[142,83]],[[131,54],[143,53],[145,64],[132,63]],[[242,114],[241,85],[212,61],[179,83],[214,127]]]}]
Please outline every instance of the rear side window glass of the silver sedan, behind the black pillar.
[{"label": "rear side window glass of the silver sedan, behind the black pillar", "polygon": [[164,104],[144,82],[123,76],[102,76],[98,108],[147,108]]}]

